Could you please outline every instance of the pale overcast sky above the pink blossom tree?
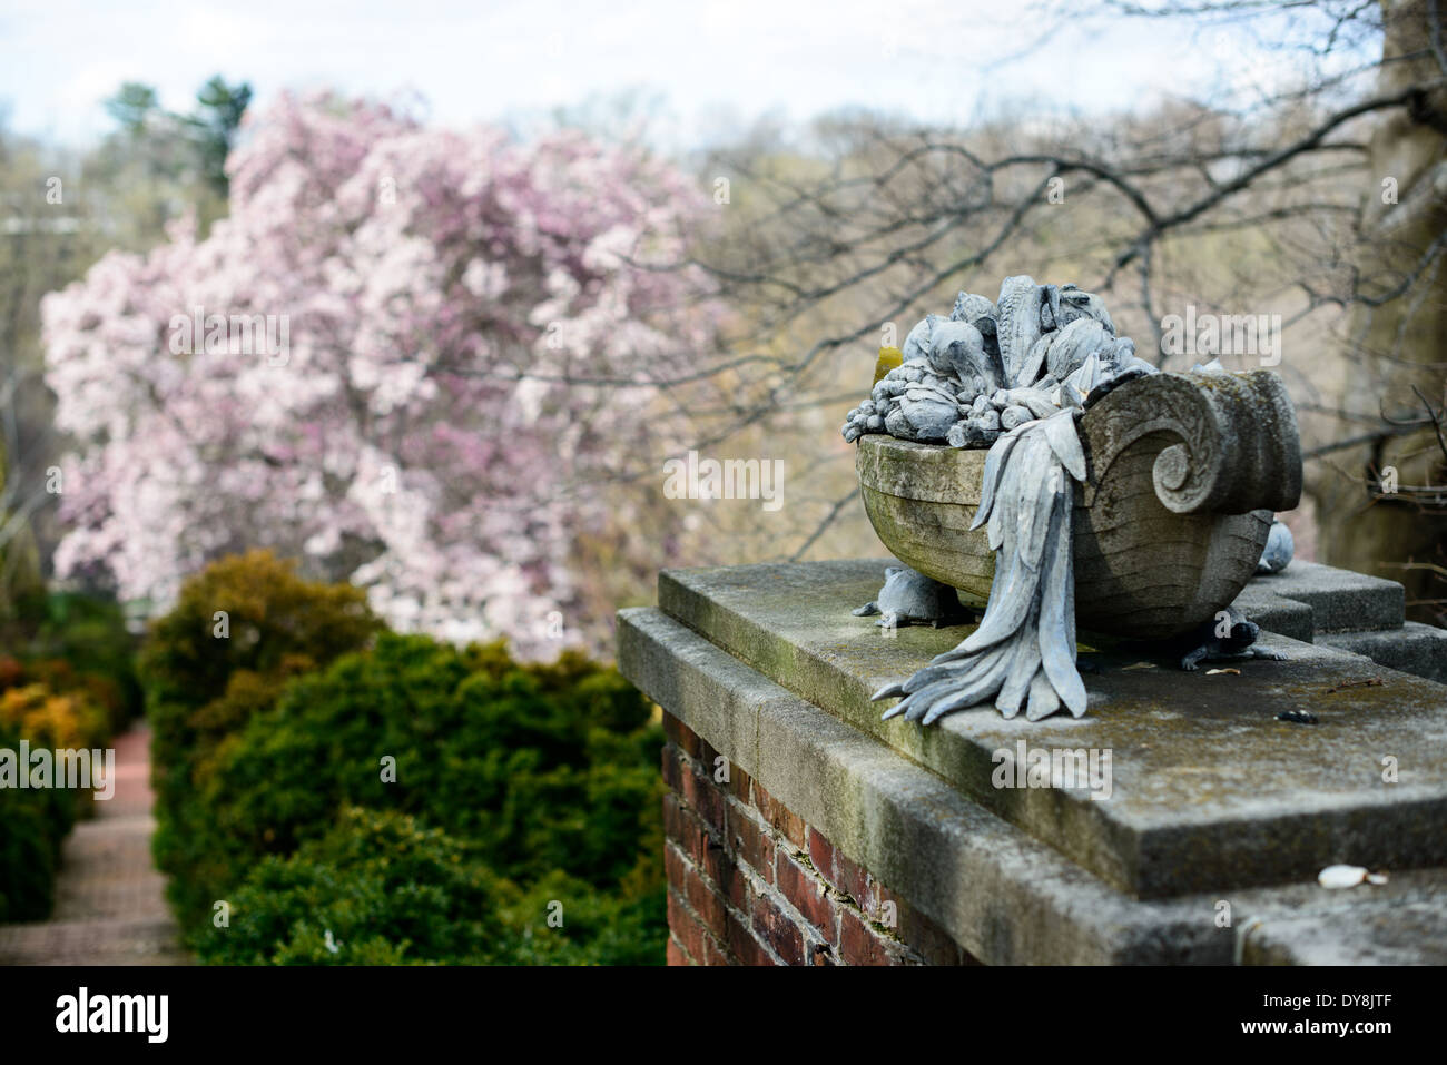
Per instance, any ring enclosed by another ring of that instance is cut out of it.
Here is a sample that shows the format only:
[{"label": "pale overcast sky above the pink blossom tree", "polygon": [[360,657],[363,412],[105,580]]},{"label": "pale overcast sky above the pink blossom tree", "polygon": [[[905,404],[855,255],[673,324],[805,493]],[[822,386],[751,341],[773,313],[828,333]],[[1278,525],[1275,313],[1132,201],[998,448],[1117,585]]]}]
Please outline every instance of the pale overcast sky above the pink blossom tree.
[{"label": "pale overcast sky above the pink blossom tree", "polygon": [[[1085,6],[1082,3],[1082,6]],[[0,0],[0,106],[20,133],[82,145],[122,81],[190,110],[213,74],[284,88],[423,97],[433,120],[517,119],[642,87],[693,146],[761,113],[865,106],[962,122],[1007,103],[1108,111],[1276,81],[1237,36],[1166,23],[1042,26],[1014,0]],[[1004,67],[993,61],[1027,52]],[[1224,71],[1224,72],[1223,72]]]}]

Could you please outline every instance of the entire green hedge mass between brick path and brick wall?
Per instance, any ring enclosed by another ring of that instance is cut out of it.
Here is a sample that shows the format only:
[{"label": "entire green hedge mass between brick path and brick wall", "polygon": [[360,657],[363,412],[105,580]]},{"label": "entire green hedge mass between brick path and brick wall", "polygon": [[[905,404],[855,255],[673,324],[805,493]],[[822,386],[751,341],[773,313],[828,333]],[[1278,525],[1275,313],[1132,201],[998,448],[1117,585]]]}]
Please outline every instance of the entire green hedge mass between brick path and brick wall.
[{"label": "entire green hedge mass between brick path and brick wall", "polygon": [[[391,632],[287,667],[305,611],[253,642],[269,666],[216,670],[210,637],[177,650],[214,598],[188,586],[145,655],[156,852],[204,961],[663,961],[663,737],[616,670]],[[179,703],[182,667],[208,702]]]}]

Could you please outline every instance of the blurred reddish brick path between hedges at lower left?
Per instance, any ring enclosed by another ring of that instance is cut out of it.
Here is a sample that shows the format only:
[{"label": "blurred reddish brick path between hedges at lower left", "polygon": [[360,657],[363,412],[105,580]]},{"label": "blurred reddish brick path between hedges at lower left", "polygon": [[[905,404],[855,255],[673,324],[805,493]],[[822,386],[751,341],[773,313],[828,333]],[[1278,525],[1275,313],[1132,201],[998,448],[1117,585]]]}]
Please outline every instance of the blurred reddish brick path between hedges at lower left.
[{"label": "blurred reddish brick path between hedges at lower left", "polygon": [[116,739],[116,794],[65,841],[49,920],[0,925],[0,965],[187,965],[150,862],[150,732]]}]

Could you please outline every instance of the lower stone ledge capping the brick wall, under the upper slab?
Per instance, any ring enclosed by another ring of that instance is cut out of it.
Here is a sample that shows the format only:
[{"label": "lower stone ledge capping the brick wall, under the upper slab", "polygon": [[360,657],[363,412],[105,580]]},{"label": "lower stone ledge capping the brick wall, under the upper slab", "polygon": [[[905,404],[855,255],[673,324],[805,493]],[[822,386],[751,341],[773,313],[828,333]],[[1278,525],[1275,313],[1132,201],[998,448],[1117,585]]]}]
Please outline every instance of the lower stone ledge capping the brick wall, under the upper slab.
[{"label": "lower stone ledge capping the brick wall, under the upper slab", "polygon": [[1447,912],[1443,870],[1351,891],[1297,883],[1134,900],[663,612],[619,612],[618,638],[629,680],[985,962],[1301,964],[1323,959],[1328,925],[1347,943],[1333,961],[1434,956],[1404,952],[1386,915]]}]

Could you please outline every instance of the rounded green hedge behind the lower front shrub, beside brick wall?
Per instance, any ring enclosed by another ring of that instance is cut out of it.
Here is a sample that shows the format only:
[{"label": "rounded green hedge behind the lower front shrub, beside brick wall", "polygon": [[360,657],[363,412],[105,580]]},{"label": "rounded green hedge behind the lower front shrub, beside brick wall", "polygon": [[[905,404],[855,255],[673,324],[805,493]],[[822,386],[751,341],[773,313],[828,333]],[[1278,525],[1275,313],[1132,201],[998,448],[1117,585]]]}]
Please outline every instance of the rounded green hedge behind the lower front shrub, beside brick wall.
[{"label": "rounded green hedge behind the lower front shrub, beside brick wall", "polygon": [[[198,793],[214,858],[203,894],[224,897],[259,855],[315,841],[341,807],[391,809],[466,841],[509,881],[499,903],[517,894],[512,883],[550,886],[569,915],[554,939],[592,942],[621,920],[631,932],[612,951],[657,955],[660,744],[647,705],[614,670],[576,655],[524,667],[501,645],[460,651],[383,634],[297,679],[221,744]],[[395,760],[392,783],[383,758]],[[515,920],[528,912],[504,909]]]}]

